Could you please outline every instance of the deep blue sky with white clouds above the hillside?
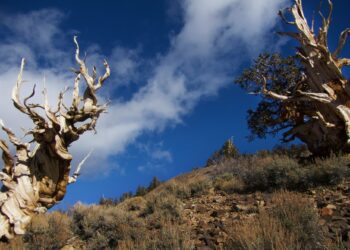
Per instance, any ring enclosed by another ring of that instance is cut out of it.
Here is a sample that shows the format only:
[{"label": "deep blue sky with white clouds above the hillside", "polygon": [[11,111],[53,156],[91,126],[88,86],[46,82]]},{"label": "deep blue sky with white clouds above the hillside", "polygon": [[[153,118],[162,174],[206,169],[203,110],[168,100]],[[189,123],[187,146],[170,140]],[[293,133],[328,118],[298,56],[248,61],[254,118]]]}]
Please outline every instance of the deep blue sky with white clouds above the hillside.
[{"label": "deep blue sky with white clouds above the hillside", "polygon": [[[319,1],[305,1],[308,16]],[[85,134],[71,152],[76,164],[91,150],[78,182],[59,207],[117,197],[203,166],[225,140],[241,152],[273,147],[278,138],[249,142],[246,111],[258,98],[233,79],[263,51],[292,53],[295,44],[274,34],[288,0],[10,1],[0,2],[0,117],[20,133],[31,127],[11,107],[10,90],[21,57],[27,90],[43,78],[50,100],[73,84],[78,35],[87,62],[112,76],[100,93],[111,99],[98,134]],[[325,6],[326,7],[326,6]],[[330,45],[349,23],[346,1],[335,3]],[[345,50],[347,52],[347,50]],[[39,93],[39,91],[38,91]],[[24,94],[23,94],[24,95]],[[42,96],[38,94],[38,100]]]}]

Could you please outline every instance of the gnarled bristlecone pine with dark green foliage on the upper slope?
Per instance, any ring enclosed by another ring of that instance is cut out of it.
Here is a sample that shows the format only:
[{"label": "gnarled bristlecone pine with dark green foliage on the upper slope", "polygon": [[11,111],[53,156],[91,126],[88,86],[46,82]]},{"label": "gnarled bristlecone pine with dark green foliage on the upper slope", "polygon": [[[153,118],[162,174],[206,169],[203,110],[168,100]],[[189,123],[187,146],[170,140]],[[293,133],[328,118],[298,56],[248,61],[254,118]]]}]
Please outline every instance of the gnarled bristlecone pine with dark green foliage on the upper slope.
[{"label": "gnarled bristlecone pine with dark green foliage on the upper slope", "polygon": [[293,20],[288,21],[285,11],[280,11],[282,20],[296,28],[280,34],[299,43],[297,60],[261,55],[254,74],[248,70],[237,80],[243,88],[263,96],[258,109],[249,113],[253,133],[262,136],[289,128],[283,140],[299,138],[314,155],[350,152],[350,83],[342,73],[350,59],[339,56],[350,28],[341,33],[337,48],[331,52],[327,36],[333,5],[330,0],[328,3],[329,13],[320,15],[318,31],[314,20],[311,25],[307,22],[301,0],[287,9]]}]

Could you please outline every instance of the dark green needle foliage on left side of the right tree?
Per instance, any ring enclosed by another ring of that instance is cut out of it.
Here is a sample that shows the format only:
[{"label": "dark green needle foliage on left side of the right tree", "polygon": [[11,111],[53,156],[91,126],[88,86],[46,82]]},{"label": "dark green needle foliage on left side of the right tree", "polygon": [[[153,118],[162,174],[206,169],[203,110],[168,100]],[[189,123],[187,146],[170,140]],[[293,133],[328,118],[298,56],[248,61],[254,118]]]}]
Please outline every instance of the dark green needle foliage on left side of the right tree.
[{"label": "dark green needle foliage on left side of the right tree", "polygon": [[[298,85],[301,80],[302,68],[295,56],[282,57],[279,54],[264,53],[245,69],[235,83],[247,92],[262,93],[264,78],[266,90],[286,95],[293,93],[296,88],[306,91],[306,85]],[[280,100],[262,95],[262,100],[255,110],[248,110],[248,126],[252,132],[250,139],[264,138],[267,134],[276,135],[279,131],[295,126],[302,119],[308,103],[283,103]]]}]

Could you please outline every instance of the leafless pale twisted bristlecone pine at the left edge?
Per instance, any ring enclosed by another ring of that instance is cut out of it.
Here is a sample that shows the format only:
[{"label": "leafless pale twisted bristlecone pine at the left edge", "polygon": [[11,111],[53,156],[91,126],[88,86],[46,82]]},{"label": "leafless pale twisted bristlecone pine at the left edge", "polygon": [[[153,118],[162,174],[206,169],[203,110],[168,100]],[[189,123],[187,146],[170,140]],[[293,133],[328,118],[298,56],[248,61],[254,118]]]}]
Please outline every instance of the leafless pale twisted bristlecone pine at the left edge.
[{"label": "leafless pale twisted bristlecone pine at the left edge", "polygon": [[[46,212],[58,201],[62,200],[67,185],[77,180],[81,165],[70,176],[72,155],[68,146],[79,139],[88,130],[94,130],[98,117],[107,105],[97,103],[96,91],[102,87],[110,75],[110,68],[105,61],[106,72],[97,77],[96,68],[89,75],[85,62],[79,57],[79,46],[76,44],[75,60],[79,69],[75,70],[76,78],[73,88],[73,100],[70,107],[63,103],[64,92],[58,97],[58,104],[52,110],[48,103],[47,91],[44,89],[44,105],[30,104],[33,92],[23,102],[20,100],[22,74],[25,60],[22,59],[16,85],[12,91],[14,106],[31,118],[34,128],[27,132],[36,143],[33,150],[29,143],[24,143],[1,122],[1,128],[15,146],[15,157],[11,154],[6,142],[0,140],[3,151],[4,168],[0,172],[3,183],[0,192],[0,237],[10,239],[14,234],[24,234],[26,225],[35,213]],[[79,96],[80,79],[84,78],[86,89],[83,97]],[[38,112],[38,109],[43,112]],[[45,115],[43,115],[45,114]]]}]

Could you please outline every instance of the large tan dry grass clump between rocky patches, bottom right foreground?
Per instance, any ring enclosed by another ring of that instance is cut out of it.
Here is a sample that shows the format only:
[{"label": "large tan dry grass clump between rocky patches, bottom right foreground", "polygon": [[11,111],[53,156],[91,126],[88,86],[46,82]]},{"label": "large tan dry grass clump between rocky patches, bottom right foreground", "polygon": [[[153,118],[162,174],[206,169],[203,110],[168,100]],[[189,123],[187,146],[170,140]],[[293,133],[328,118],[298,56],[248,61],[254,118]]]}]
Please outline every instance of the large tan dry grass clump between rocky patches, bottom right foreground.
[{"label": "large tan dry grass clump between rocky patches, bottom right foreground", "polygon": [[231,229],[226,249],[324,249],[317,212],[309,200],[287,191],[275,193],[272,200],[271,211],[261,211]]}]

